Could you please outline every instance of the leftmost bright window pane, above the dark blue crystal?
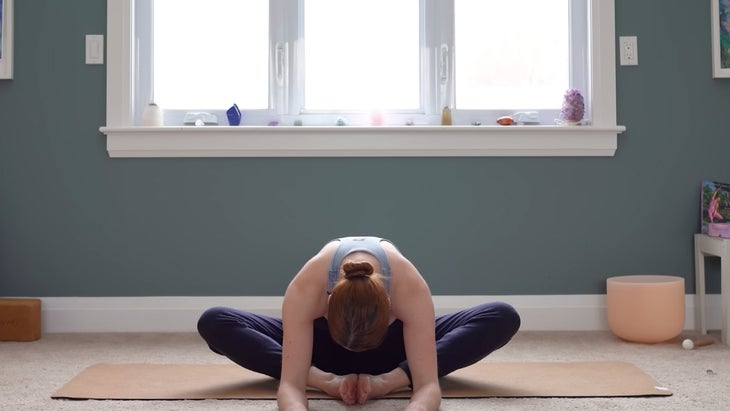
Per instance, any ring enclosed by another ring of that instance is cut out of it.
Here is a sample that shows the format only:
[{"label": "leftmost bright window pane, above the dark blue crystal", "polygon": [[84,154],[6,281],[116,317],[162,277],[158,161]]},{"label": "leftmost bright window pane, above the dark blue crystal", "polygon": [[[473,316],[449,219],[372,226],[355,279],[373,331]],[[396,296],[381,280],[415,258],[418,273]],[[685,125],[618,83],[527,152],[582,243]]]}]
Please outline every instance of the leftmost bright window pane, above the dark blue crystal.
[{"label": "leftmost bright window pane, above the dark blue crystal", "polygon": [[268,0],[155,0],[154,100],[165,109],[268,107]]}]

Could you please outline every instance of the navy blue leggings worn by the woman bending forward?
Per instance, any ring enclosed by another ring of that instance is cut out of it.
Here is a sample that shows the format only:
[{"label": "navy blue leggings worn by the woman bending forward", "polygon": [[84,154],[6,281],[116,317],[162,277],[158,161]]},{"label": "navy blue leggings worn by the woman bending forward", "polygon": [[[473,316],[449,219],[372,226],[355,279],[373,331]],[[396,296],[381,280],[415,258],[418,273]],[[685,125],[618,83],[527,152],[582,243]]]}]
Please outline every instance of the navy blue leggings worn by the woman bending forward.
[{"label": "navy blue leggings worn by the woman bending forward", "polygon": [[[501,348],[520,328],[520,316],[509,304],[494,302],[436,318],[438,376],[474,364]],[[211,350],[236,364],[279,379],[283,328],[280,318],[228,307],[208,309],[198,320],[198,332]],[[403,323],[394,321],[383,343],[373,350],[353,352],[334,342],[327,320],[314,321],[312,365],[337,375],[383,374],[396,367],[408,377]]]}]

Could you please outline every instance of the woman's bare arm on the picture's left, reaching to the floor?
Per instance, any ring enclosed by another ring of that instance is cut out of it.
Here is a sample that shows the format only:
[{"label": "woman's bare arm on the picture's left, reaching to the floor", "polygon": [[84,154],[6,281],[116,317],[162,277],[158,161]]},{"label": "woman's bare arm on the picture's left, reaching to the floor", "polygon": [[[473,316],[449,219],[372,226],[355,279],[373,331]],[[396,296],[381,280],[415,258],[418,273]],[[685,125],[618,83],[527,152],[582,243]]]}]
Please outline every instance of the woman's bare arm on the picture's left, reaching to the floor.
[{"label": "woman's bare arm on the picture's left, reaching to the floor", "polygon": [[[324,251],[324,250],[323,250]],[[284,342],[277,401],[281,411],[307,409],[313,322],[327,309],[327,262],[322,252],[309,260],[287,287],[282,305]]]}]

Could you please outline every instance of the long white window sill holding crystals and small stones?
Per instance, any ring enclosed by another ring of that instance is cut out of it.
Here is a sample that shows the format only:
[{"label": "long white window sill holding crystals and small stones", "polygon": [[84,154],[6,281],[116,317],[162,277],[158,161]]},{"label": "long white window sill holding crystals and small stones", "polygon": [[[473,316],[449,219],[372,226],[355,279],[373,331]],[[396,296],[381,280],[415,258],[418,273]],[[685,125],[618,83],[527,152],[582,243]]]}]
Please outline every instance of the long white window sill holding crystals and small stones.
[{"label": "long white window sill holding crystals and small stones", "polygon": [[624,126],[101,127],[109,157],[611,157]]}]

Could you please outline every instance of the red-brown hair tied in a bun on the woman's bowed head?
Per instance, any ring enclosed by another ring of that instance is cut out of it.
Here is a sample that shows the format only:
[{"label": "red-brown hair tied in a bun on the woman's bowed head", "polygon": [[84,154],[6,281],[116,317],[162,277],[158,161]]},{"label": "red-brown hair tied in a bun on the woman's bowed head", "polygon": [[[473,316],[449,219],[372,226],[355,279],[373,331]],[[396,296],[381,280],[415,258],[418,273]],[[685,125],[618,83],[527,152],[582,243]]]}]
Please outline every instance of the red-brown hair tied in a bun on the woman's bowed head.
[{"label": "red-brown hair tied in a bun on the woman's bowed head", "polygon": [[390,300],[381,275],[367,262],[347,262],[332,289],[327,320],[332,339],[351,351],[378,347],[390,322]]}]

